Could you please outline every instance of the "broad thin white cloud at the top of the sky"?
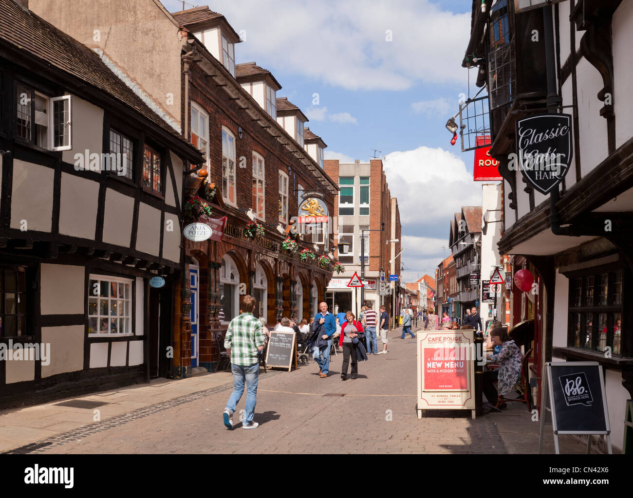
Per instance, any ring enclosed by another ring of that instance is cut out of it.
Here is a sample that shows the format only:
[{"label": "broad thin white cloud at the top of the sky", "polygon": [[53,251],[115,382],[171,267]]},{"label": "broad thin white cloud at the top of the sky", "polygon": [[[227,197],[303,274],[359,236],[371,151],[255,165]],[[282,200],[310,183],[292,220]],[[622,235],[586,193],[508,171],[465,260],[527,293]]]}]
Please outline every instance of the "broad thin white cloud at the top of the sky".
[{"label": "broad thin white cloud at the top of the sky", "polygon": [[[171,10],[182,8],[175,0],[163,1]],[[210,8],[236,31],[246,30],[246,42],[235,47],[237,61],[256,60],[350,90],[463,82],[470,6],[454,14],[429,0],[323,0],[318,5],[216,0]],[[448,40],[447,34],[449,41],[438,43]]]}]

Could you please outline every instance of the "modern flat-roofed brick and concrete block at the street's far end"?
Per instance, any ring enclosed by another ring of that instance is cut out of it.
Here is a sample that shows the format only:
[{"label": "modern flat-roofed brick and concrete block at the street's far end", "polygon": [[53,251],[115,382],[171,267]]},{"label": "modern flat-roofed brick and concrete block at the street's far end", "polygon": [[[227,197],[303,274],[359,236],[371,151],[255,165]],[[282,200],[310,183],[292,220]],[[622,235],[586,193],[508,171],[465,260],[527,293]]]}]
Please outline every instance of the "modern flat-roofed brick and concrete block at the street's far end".
[{"label": "modern flat-roofed brick and concrete block at the street's far end", "polygon": [[[382,159],[370,159],[369,163],[355,161],[352,164],[342,164],[338,159],[329,159],[324,161],[324,169],[330,178],[338,182],[340,189],[339,196],[334,198],[334,216],[337,216],[335,244],[341,240],[346,240],[350,244],[348,254],[337,252],[338,261],[345,266],[345,271],[330,280],[327,292],[330,309],[339,306],[341,309],[352,309],[354,313],[356,309],[360,310],[363,304],[361,293],[349,289],[347,283],[354,272],[361,277],[363,257],[365,303],[373,309],[385,304],[387,310],[391,310],[389,296],[380,295],[380,272],[386,275],[391,271],[389,261],[400,251],[400,242],[387,244],[387,240],[401,238],[401,225],[397,201],[389,192]],[[370,231],[365,232],[365,253],[361,254],[363,229]],[[396,235],[392,236],[392,233]],[[399,257],[394,263],[399,275]],[[385,278],[385,283],[385,290],[388,292],[388,277]],[[399,289],[399,286],[396,288]],[[391,314],[391,311],[389,313]]]}]

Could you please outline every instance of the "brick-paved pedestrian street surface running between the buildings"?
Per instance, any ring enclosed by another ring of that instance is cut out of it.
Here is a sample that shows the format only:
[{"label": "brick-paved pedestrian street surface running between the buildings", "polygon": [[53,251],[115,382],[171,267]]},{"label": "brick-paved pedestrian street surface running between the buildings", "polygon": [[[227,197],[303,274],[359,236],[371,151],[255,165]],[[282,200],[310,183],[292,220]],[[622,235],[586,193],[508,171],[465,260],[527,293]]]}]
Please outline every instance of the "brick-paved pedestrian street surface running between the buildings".
[{"label": "brick-paved pedestrian street surface running between the buildings", "polygon": [[[414,328],[415,330],[415,328]],[[222,411],[232,390],[223,383],[202,392],[163,399],[146,408],[78,427],[38,443],[37,453],[525,453],[538,451],[539,424],[525,405],[472,420],[470,411],[416,415],[415,340],[389,337],[389,353],[359,363],[359,377],[341,381],[342,354],[333,356],[330,375],[316,364],[298,371],[260,374],[256,430],[223,426]],[[205,376],[211,378],[214,374]],[[222,375],[222,374],[218,374]],[[175,382],[187,382],[175,381]],[[135,390],[125,390],[132,394]],[[95,399],[95,396],[91,397]],[[102,397],[106,399],[106,397]],[[238,404],[244,408],[246,395]],[[23,410],[34,410],[25,408]],[[105,407],[104,407],[105,409]],[[75,415],[81,417],[80,409]],[[71,412],[69,412],[71,413]],[[84,411],[82,420],[92,416]],[[0,418],[0,421],[2,419]],[[61,418],[60,418],[61,420]],[[80,420],[80,418],[77,418]],[[553,452],[551,432],[547,452]],[[561,439],[562,452],[584,449]],[[23,450],[28,451],[28,450]]]}]

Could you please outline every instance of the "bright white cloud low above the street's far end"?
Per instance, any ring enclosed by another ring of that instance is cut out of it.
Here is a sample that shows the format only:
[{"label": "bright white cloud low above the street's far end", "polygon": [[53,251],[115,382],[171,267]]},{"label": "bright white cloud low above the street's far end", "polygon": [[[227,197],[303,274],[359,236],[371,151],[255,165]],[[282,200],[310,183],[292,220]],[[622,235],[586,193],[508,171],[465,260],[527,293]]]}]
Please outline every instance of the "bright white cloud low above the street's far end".
[{"label": "bright white cloud low above the street's far end", "polygon": [[472,173],[460,158],[439,147],[387,154],[383,164],[391,196],[398,197],[403,231],[407,223],[446,221],[448,243],[454,213],[461,206],[481,205],[481,186],[473,183]]}]

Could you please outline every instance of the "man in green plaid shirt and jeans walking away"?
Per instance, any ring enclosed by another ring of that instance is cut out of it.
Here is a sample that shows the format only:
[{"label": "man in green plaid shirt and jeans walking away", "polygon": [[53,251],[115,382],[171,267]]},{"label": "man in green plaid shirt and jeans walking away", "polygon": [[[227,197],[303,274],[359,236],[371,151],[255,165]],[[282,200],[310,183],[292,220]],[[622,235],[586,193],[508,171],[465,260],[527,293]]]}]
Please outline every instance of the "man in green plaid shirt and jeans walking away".
[{"label": "man in green plaid shirt and jeans walking away", "polygon": [[246,381],[246,409],[242,429],[255,429],[253,422],[257,402],[257,383],[260,380],[260,357],[258,352],[264,349],[265,333],[261,321],[253,316],[256,299],[253,296],[242,298],[242,314],[231,320],[224,337],[224,347],[231,358],[234,390],[222,414],[224,425],[233,428],[235,406],[244,394]]}]

